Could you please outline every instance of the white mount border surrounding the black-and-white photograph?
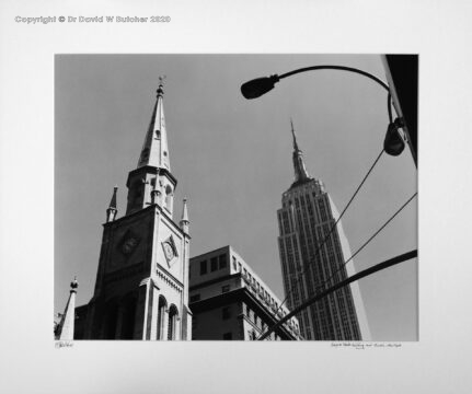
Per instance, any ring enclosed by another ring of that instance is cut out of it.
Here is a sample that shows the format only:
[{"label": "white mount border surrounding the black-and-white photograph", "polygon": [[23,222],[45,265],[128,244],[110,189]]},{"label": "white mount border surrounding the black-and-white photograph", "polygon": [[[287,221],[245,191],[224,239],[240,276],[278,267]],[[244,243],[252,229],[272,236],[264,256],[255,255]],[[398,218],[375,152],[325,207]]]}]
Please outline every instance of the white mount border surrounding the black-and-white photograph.
[{"label": "white mount border surrounding the black-and-white photograph", "polygon": [[[3,1],[0,337],[3,392],[467,393],[471,5],[465,1]],[[16,15],[169,14],[168,25],[25,25]],[[83,343],[55,349],[54,54],[419,53],[419,343]],[[468,111],[469,109],[469,111]],[[50,324],[49,324],[50,321]]]}]

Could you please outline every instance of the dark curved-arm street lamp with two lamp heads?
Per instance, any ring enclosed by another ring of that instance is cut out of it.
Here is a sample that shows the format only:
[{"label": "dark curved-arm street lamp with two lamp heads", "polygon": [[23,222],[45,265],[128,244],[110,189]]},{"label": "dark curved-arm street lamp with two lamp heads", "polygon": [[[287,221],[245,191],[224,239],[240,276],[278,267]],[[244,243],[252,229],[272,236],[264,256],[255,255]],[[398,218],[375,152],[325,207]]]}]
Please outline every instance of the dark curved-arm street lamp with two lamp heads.
[{"label": "dark curved-arm street lamp with two lamp heads", "polygon": [[[402,151],[405,148],[405,141],[404,141],[404,137],[400,134],[400,128],[404,127],[404,121],[402,118],[396,118],[393,121],[392,111],[391,111],[392,99],[391,99],[390,88],[385,82],[383,82],[382,80],[380,80],[376,76],[372,76],[369,72],[366,72],[353,67],[344,67],[344,66],[330,65],[330,66],[304,67],[301,69],[286,72],[281,76],[273,74],[270,77],[262,77],[262,78],[256,78],[251,81],[247,81],[241,85],[241,93],[247,100],[257,99],[263,94],[272,91],[275,84],[284,78],[291,77],[300,72],[315,71],[315,70],[342,70],[342,71],[355,72],[373,80],[379,85],[381,85],[384,90],[387,90],[387,92],[389,93],[388,103],[387,103],[388,109],[389,109],[389,126],[387,128],[385,139],[383,141],[383,148],[385,152],[390,155],[399,155],[400,153],[402,153]],[[413,154],[413,158],[415,158],[415,154]],[[416,161],[415,161],[415,164],[416,164]]]}]

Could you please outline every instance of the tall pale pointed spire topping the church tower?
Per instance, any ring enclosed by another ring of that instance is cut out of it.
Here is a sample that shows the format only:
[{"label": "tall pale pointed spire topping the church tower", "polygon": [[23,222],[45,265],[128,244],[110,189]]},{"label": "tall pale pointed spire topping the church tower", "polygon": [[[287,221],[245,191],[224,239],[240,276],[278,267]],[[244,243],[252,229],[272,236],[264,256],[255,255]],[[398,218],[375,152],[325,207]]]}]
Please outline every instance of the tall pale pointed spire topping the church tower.
[{"label": "tall pale pointed spire topping the church tower", "polygon": [[156,105],[152,112],[148,132],[145,138],[145,143],[142,144],[138,169],[145,165],[151,165],[158,169],[166,169],[171,171],[163,105],[163,79],[164,77],[159,77]]}]

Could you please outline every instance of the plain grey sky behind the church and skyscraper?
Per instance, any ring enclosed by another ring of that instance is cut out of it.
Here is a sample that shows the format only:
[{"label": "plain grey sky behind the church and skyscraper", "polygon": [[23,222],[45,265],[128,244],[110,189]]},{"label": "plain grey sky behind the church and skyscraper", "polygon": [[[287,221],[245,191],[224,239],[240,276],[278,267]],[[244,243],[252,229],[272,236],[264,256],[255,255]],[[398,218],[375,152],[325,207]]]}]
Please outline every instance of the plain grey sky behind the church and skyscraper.
[{"label": "plain grey sky behind the church and skyscraper", "polygon": [[[290,118],[311,176],[342,211],[382,149],[385,91],[369,79],[316,71],[280,81],[247,101],[241,83],[314,65],[342,65],[385,80],[377,55],[56,55],[55,312],[69,282],[89,302],[102,224],[118,186],[137,165],[164,79],[174,220],[188,199],[191,256],[232,245],[280,299],[276,211],[293,181]],[[417,189],[413,159],[383,154],[343,218],[355,252]],[[359,271],[417,248],[414,199],[355,258]],[[347,256],[348,257],[348,256]],[[353,263],[349,263],[353,264]],[[402,263],[359,281],[373,340],[417,339],[417,264]]]}]

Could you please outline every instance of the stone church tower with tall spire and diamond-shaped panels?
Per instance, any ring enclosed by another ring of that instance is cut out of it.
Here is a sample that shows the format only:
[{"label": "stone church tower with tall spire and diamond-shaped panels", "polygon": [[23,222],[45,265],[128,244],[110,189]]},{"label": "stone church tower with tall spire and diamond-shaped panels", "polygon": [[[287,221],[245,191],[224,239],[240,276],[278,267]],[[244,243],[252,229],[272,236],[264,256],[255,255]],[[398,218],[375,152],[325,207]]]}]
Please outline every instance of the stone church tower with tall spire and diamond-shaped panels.
[{"label": "stone church tower with tall spire and diamond-shaped panels", "polygon": [[95,290],[84,339],[189,340],[188,213],[173,220],[162,80],[137,167],[129,172],[126,215],[115,187],[106,209]]}]

